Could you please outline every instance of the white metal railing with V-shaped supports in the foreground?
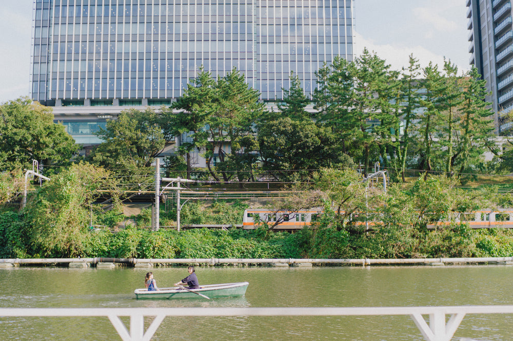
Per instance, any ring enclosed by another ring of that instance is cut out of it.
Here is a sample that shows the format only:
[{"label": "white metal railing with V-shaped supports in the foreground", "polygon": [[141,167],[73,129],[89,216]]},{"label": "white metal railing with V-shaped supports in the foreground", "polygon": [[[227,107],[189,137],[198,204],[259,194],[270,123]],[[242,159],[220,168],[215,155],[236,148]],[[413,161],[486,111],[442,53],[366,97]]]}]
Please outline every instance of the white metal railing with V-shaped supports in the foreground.
[{"label": "white metal railing with V-shaped supports in the foreground", "polygon": [[[426,341],[450,341],[466,314],[513,314],[513,306],[348,308],[0,308],[0,316],[105,316],[123,341],[150,341],[166,316],[372,316],[408,315]],[[428,321],[422,315],[428,315]],[[446,323],[446,315],[450,315]],[[130,316],[129,329],[120,316]],[[155,316],[144,330],[144,317]],[[428,324],[429,323],[429,324]]]}]

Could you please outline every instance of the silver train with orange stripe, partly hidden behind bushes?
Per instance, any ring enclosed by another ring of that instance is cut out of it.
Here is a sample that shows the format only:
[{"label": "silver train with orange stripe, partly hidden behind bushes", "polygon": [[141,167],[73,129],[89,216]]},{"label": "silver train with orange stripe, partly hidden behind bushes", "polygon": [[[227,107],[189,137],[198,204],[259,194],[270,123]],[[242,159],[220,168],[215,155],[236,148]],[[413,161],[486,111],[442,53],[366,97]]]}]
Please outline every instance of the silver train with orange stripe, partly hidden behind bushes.
[{"label": "silver train with orange stripe, partly hidden behind bushes", "polygon": [[[243,228],[254,229],[263,224],[274,226],[274,230],[298,230],[310,226],[312,217],[322,214],[322,209],[299,211],[270,210],[265,208],[246,209],[244,211]],[[427,224],[428,229],[442,228],[454,223],[468,224],[473,229],[513,228],[512,209],[483,209],[471,212],[451,212],[450,219]],[[363,216],[352,215],[353,224],[364,225]],[[373,225],[372,222],[367,222]]]}]

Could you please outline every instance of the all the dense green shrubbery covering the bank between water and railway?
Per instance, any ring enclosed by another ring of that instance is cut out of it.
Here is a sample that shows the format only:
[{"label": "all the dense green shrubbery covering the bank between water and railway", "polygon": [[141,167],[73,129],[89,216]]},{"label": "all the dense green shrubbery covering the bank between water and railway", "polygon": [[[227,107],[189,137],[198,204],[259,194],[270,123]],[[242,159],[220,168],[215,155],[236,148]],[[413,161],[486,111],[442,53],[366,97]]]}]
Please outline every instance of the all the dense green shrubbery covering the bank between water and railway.
[{"label": "all the dense green shrubbery covering the bank between water and railway", "polygon": [[[513,231],[475,230],[452,223],[435,230],[427,224],[448,214],[477,208],[510,206],[511,197],[496,188],[468,192],[445,177],[420,177],[409,185],[393,184],[387,192],[368,189],[351,171],[324,170],[315,189],[297,191],[275,209],[324,207],[311,227],[293,234],[271,228],[255,230],[161,228],[150,231],[150,210],[132,216],[135,225],[116,233],[89,229],[91,202],[98,185],[108,186],[107,174],[79,164],[44,184],[22,213],[0,213],[0,257],[120,257],[120,258],[423,258],[513,256]],[[92,180],[91,180],[92,179]],[[83,182],[92,183],[82,187]],[[369,195],[366,195],[369,191]],[[282,205],[282,206],[281,206]],[[240,202],[188,202],[183,224],[241,224],[247,205]],[[362,210],[361,208],[365,208]],[[370,224],[354,223],[365,215]],[[94,210],[93,210],[94,211]],[[112,227],[120,206],[93,215],[96,224]],[[161,213],[174,223],[176,211]],[[360,216],[361,217],[361,216]]]}]

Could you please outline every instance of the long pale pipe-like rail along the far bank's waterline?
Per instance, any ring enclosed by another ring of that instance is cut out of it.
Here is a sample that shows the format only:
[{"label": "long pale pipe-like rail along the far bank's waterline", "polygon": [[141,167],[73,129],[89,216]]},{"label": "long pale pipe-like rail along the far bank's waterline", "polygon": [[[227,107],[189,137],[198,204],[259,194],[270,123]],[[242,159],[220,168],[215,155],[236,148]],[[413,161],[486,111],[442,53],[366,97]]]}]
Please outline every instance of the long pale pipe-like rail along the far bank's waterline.
[{"label": "long pale pipe-like rail along the far bank's waterline", "polygon": [[461,257],[461,258],[393,258],[393,259],[328,259],[328,258],[4,258],[0,264],[63,264],[63,263],[117,263],[136,264],[311,264],[311,265],[443,265],[443,264],[513,264],[513,257]]}]

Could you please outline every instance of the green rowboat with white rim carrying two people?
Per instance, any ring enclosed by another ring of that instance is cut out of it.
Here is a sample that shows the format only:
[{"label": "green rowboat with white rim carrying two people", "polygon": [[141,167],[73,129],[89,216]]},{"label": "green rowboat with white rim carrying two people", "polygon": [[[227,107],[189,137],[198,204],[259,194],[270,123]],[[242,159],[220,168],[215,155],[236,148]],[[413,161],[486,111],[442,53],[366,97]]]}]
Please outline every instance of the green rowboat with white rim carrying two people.
[{"label": "green rowboat with white rim carrying two people", "polygon": [[248,288],[248,282],[224,283],[203,285],[200,289],[185,289],[183,287],[159,288],[157,291],[147,289],[135,289],[137,299],[173,299],[173,298],[208,298],[238,297],[244,296]]}]

